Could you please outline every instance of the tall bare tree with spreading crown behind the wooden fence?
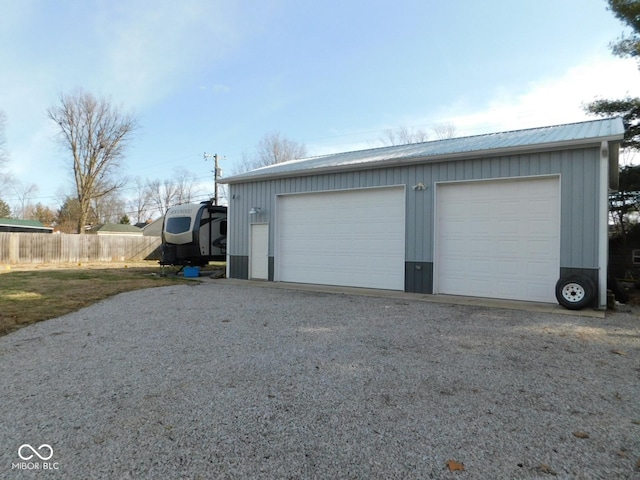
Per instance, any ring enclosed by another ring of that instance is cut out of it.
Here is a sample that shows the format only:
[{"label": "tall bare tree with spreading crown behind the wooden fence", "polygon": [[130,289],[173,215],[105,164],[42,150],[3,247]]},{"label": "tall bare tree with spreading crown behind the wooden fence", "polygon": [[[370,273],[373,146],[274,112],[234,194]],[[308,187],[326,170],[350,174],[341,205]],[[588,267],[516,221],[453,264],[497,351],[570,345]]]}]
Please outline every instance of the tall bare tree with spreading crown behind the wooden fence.
[{"label": "tall bare tree with spreading crown behind the wooden fence", "polygon": [[84,233],[92,201],[124,185],[118,172],[138,125],[109,100],[84,90],[61,94],[59,100],[47,114],[60,127],[60,143],[71,153],[80,206],[78,232]]}]

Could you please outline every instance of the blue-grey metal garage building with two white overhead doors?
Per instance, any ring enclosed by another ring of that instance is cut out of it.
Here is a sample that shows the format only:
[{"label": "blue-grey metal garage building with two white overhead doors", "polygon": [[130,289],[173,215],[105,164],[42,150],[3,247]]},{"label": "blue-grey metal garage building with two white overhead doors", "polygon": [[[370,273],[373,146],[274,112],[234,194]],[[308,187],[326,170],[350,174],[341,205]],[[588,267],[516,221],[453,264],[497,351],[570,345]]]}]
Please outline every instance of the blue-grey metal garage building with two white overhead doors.
[{"label": "blue-grey metal garage building with two white overhead doors", "polygon": [[229,184],[227,276],[606,307],[620,118],[305,158]]}]

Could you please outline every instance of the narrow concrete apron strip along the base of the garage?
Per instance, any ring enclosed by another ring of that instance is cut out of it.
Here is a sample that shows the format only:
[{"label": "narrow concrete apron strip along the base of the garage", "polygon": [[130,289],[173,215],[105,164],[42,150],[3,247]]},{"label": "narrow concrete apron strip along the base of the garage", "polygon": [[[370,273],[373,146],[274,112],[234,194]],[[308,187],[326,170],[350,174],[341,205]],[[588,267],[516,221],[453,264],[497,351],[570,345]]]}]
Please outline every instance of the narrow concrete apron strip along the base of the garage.
[{"label": "narrow concrete apron strip along the base of the garage", "polygon": [[575,315],[591,318],[605,318],[605,310],[585,308],[582,310],[568,310],[555,303],[523,302],[518,300],[501,300],[496,298],[463,297],[458,295],[431,295],[423,293],[407,293],[395,290],[377,290],[373,288],[341,287],[333,285],[315,285],[306,283],[267,282],[265,280],[238,280],[235,278],[202,280],[221,282],[225,285],[244,285],[262,288],[278,288],[284,290],[298,290],[303,292],[336,293],[344,295],[361,295],[366,297],[394,298],[421,302],[444,303],[449,305],[470,305],[488,308],[504,308],[509,310],[524,310],[527,312],[554,313],[559,315]]}]

